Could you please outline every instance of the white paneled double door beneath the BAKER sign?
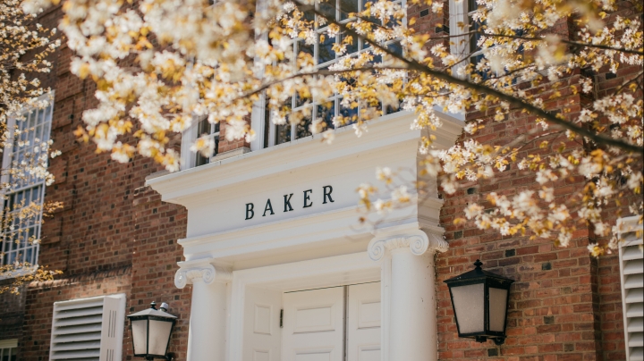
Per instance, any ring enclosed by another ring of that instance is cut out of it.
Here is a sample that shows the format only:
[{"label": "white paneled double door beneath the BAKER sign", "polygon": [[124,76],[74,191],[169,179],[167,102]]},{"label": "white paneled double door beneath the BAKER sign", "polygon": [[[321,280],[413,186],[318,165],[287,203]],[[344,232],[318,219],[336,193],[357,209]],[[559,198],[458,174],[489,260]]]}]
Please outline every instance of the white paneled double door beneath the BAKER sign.
[{"label": "white paneled double door beneath the BAKER sign", "polygon": [[380,360],[380,282],[288,292],[282,301],[282,360]]}]

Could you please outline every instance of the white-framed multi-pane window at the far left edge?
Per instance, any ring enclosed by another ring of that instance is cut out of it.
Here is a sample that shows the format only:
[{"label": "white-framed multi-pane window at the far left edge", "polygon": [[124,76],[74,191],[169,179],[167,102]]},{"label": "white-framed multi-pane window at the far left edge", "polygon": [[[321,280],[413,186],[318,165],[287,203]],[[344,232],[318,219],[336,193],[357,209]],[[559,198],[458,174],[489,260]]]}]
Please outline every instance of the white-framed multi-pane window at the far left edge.
[{"label": "white-framed multi-pane window at the far left edge", "polygon": [[13,147],[4,155],[4,170],[11,170],[6,181],[12,189],[4,194],[0,264],[38,263],[46,180],[29,169],[47,156],[44,145],[49,140],[52,111],[53,105],[31,109],[12,120]]}]

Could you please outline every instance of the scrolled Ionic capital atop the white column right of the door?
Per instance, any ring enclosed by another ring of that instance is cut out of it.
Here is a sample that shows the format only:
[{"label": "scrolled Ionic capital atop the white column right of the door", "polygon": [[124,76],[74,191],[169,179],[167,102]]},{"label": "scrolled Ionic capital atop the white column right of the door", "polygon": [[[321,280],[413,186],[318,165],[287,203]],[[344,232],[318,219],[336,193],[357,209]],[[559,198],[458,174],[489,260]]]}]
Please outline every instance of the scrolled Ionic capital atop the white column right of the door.
[{"label": "scrolled Ionic capital atop the white column right of the door", "polygon": [[385,256],[386,251],[391,252],[395,248],[410,248],[412,254],[420,256],[428,250],[445,252],[449,248],[449,244],[441,236],[418,230],[371,239],[367,253],[369,254],[369,258],[374,261],[379,261]]}]

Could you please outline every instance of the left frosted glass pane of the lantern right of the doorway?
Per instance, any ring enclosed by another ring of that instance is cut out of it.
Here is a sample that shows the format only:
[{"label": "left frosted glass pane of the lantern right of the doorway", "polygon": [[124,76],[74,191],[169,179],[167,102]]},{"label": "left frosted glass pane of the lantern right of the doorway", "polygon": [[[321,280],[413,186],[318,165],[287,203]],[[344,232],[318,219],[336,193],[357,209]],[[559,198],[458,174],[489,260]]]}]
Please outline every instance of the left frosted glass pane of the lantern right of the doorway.
[{"label": "left frosted glass pane of the lantern right of the doorway", "polygon": [[452,287],[454,313],[461,333],[484,332],[485,286],[483,283]]}]

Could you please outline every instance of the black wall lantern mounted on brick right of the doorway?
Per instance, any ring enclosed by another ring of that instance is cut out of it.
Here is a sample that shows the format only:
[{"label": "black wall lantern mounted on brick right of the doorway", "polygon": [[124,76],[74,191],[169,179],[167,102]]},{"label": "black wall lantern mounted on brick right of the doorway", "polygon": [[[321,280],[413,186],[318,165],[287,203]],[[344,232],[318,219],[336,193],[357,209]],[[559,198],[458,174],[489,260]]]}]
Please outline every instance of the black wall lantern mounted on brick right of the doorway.
[{"label": "black wall lantern mounted on brick right of the doorway", "polygon": [[459,337],[497,345],[505,341],[510,285],[513,280],[483,271],[478,259],[476,268],[445,283],[450,290]]}]

